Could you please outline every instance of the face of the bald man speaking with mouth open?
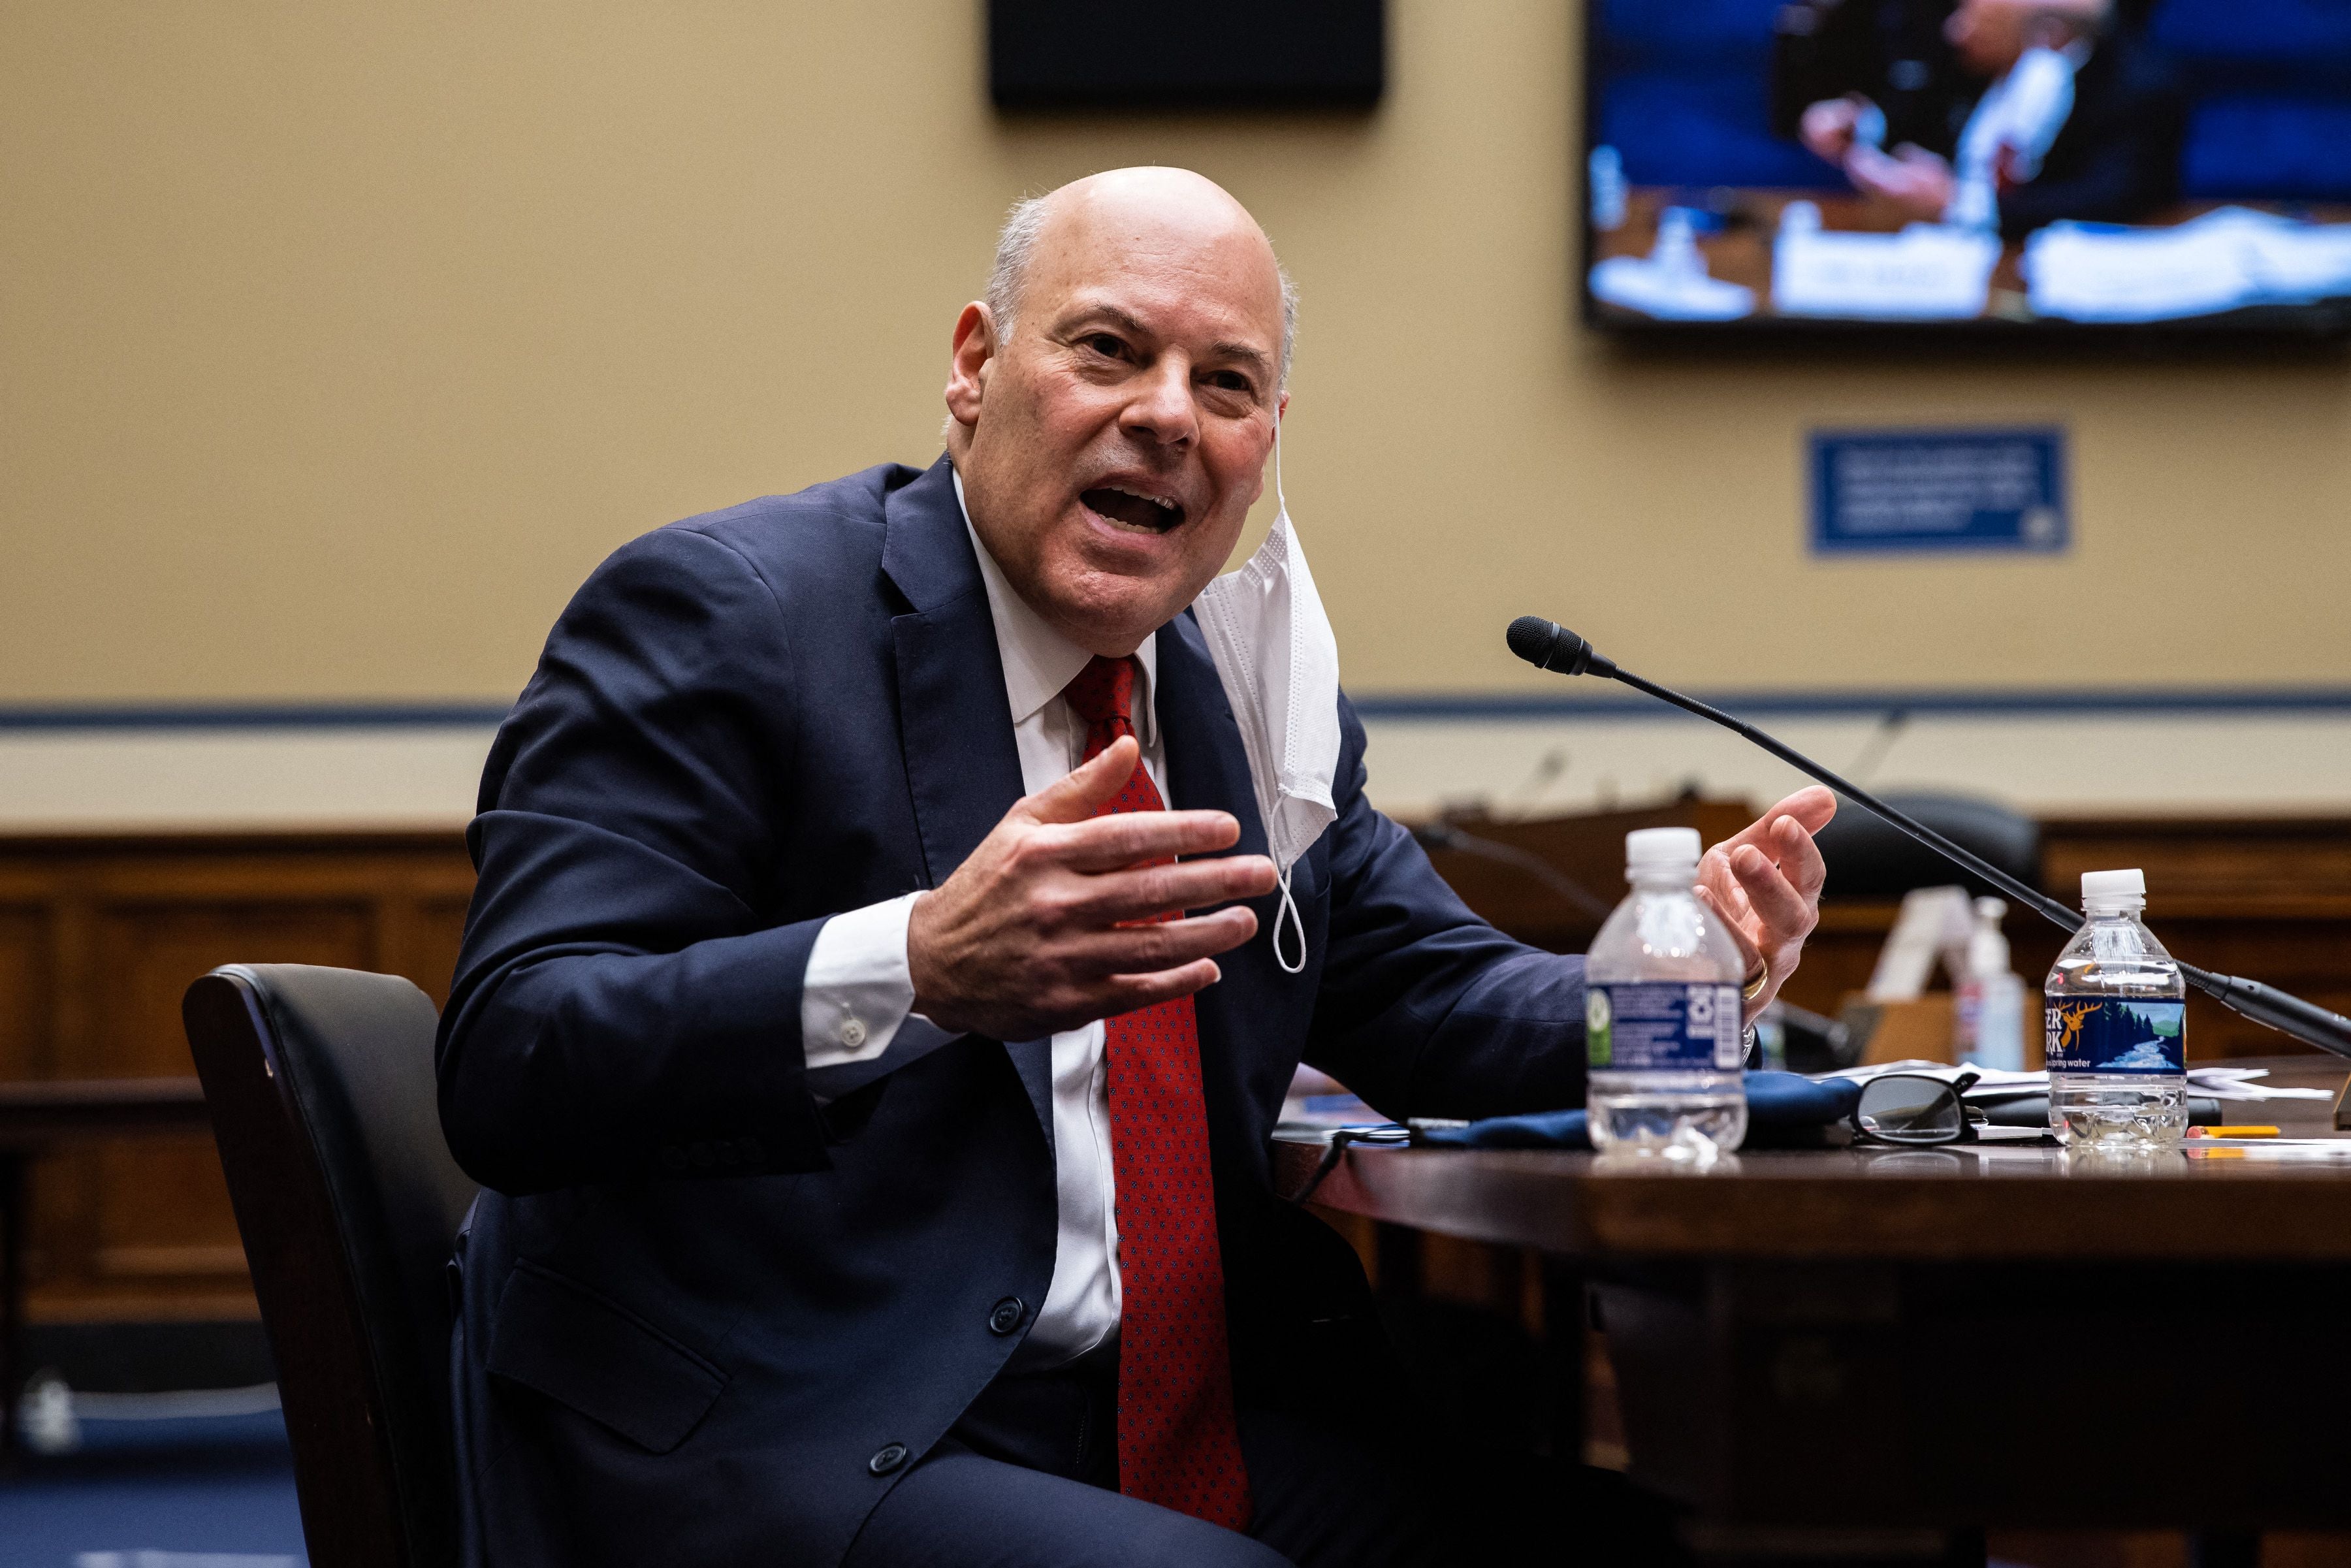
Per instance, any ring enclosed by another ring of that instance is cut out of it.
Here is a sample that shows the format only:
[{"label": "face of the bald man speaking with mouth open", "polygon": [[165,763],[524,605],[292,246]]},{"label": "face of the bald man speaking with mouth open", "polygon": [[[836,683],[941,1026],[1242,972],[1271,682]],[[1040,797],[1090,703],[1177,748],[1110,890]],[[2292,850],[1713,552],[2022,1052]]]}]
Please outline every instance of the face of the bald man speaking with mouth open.
[{"label": "face of the bald man speaking with mouth open", "polygon": [[1124,656],[1232,555],[1284,397],[1281,275],[1199,176],[1065,188],[1009,343],[957,322],[950,451],[980,543],[1039,616]]}]

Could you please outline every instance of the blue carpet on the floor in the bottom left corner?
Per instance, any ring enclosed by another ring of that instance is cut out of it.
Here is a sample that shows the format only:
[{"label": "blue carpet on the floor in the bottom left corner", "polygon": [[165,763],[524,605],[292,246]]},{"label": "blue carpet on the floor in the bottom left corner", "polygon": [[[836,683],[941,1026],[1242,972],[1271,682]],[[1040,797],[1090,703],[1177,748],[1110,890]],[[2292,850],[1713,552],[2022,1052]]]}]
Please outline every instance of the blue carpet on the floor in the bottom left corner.
[{"label": "blue carpet on the floor in the bottom left corner", "polygon": [[0,1479],[0,1568],[301,1568],[284,1418],[85,1420]]}]

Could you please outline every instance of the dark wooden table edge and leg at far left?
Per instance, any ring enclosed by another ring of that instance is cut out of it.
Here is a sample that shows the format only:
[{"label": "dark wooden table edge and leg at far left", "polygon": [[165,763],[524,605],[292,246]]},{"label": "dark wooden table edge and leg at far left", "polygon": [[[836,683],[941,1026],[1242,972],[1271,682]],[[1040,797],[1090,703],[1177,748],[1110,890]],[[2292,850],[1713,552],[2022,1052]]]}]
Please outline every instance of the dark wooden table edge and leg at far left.
[{"label": "dark wooden table edge and leg at far left", "polygon": [[59,1143],[207,1126],[193,1077],[0,1084],[0,1462],[16,1450],[24,1387],[26,1168]]}]

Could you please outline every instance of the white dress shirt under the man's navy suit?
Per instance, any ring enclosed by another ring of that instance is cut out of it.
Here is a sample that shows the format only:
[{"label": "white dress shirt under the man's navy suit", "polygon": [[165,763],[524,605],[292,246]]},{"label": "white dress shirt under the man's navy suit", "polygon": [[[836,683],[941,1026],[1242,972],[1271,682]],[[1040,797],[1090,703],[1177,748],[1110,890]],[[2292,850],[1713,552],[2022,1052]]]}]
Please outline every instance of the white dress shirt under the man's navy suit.
[{"label": "white dress shirt under the man's navy suit", "polygon": [[[964,480],[955,480],[962,505]],[[1004,696],[1020,748],[1020,788],[1027,795],[1065,778],[1086,757],[1086,724],[1070,712],[1063,689],[1093,658],[1030,609],[971,531],[987,583],[987,611],[1004,658]],[[1166,799],[1166,748],[1152,712],[1159,656],[1152,639],[1136,649],[1136,738],[1143,769]],[[905,922],[917,893],[835,914],[816,933],[799,992],[799,1037],[809,1086],[842,1095],[955,1039],[915,1011],[915,980],[905,959]],[[1103,1025],[1053,1037],[1053,1166],[1060,1194],[1060,1241],[1053,1284],[1037,1324],[1013,1356],[1016,1368],[1060,1366],[1100,1345],[1119,1326],[1119,1215],[1110,1164],[1110,1072]]]}]

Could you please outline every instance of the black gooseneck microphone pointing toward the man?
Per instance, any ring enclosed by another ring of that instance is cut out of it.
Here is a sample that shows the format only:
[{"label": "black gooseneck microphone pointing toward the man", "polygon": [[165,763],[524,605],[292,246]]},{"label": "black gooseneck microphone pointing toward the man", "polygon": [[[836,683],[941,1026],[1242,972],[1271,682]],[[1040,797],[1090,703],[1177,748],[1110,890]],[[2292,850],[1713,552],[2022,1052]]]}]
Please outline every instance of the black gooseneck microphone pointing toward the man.
[{"label": "black gooseneck microphone pointing toward the man", "polygon": [[[1509,651],[1523,658],[1526,663],[1535,665],[1538,670],[1556,670],[1559,675],[1603,675],[1608,679],[1625,682],[1634,691],[1646,691],[1662,703],[1672,703],[1674,708],[1695,712],[1700,719],[1721,724],[1723,729],[1735,731],[1742,738],[1761,745],[1766,752],[1789,764],[1799,773],[1817,778],[1820,783],[1829,785],[1831,790],[1850,799],[1855,806],[1862,806],[1871,816],[1918,839],[1921,844],[1940,853],[1944,860],[1975,872],[1977,877],[2001,889],[2024,907],[2038,910],[2045,919],[2062,926],[2064,931],[2069,933],[2081,931],[2083,917],[2076,914],[2071,905],[2057,903],[2041,889],[2024,886],[2022,882],[2003,872],[1998,865],[1991,865],[1975,851],[1954,844],[1951,839],[1942,837],[1925,823],[1911,820],[1902,811],[1895,811],[1869,790],[1846,783],[1843,778],[1820,766],[1796,748],[1782,745],[1773,736],[1766,736],[1754,724],[1735,719],[1721,708],[1707,708],[1697,698],[1681,696],[1679,691],[1669,691],[1655,682],[1646,682],[1629,670],[1620,670],[1613,661],[1594,654],[1589,642],[1585,642],[1568,628],[1559,625],[1556,621],[1545,621],[1542,616],[1519,616],[1516,621],[1509,623]],[[2351,1018],[2344,1018],[2342,1013],[2330,1013],[2313,1001],[2304,1001],[2302,997],[2290,997],[2271,985],[2262,985],[2259,980],[2243,980],[2238,976],[2217,976],[2210,969],[2196,969],[2193,964],[2186,961],[2179,964],[2179,973],[2186,978],[2189,985],[2193,985],[2203,994],[2212,997],[2215,1001],[2236,1013],[2243,1013],[2245,1018],[2252,1018],[2255,1023],[2269,1025],[2280,1034],[2292,1034],[2295,1039],[2309,1046],[2318,1046],[2320,1051],[2332,1051],[2335,1056],[2351,1056]]]}]

